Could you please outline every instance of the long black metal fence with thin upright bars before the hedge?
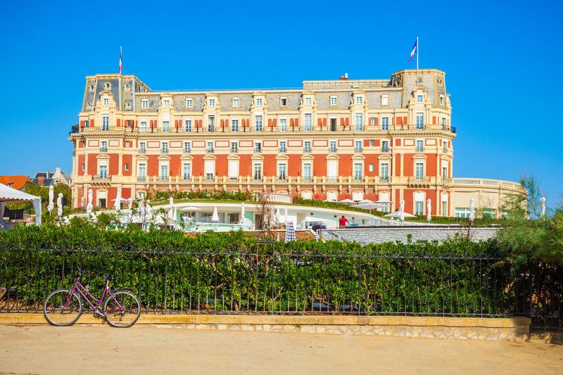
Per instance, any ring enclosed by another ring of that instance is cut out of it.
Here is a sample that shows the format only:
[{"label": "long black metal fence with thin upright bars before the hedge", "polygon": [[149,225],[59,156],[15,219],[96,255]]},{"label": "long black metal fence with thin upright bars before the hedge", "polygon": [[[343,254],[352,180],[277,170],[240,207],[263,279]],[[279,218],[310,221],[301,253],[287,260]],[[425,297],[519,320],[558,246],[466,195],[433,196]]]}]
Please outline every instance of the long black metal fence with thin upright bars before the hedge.
[{"label": "long black metal fence with thin upright bars before the hedge", "polygon": [[0,249],[0,312],[42,311],[49,292],[72,286],[78,267],[94,295],[110,274],[151,313],[523,315],[536,328],[562,328],[562,272],[463,250]]}]

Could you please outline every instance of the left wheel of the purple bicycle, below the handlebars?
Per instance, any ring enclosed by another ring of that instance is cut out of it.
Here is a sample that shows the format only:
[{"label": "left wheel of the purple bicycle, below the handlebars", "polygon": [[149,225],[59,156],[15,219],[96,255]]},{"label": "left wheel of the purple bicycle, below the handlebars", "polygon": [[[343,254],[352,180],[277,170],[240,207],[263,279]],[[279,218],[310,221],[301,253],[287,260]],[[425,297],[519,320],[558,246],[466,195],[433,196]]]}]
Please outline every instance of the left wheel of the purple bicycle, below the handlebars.
[{"label": "left wheel of the purple bicycle, below the handlebars", "polygon": [[54,291],[43,303],[43,314],[52,326],[72,326],[82,315],[82,300],[68,289]]}]

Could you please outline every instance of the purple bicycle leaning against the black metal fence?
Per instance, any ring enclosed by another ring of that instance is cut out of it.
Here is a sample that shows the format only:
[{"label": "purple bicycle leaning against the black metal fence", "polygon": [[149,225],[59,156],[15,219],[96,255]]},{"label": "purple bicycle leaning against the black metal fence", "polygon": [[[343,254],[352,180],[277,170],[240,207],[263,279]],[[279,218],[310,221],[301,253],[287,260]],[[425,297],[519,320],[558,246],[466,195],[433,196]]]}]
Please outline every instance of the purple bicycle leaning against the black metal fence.
[{"label": "purple bicycle leaning against the black metal fence", "polygon": [[94,317],[106,319],[110,326],[127,328],[132,326],[141,315],[139,298],[130,289],[110,289],[109,282],[113,277],[105,276],[106,287],[101,298],[91,295],[88,288],[80,284],[84,272],[78,270],[78,278],[70,290],[59,289],[49,294],[43,304],[43,314],[53,326],[72,326],[82,315],[82,298],[90,305]]}]

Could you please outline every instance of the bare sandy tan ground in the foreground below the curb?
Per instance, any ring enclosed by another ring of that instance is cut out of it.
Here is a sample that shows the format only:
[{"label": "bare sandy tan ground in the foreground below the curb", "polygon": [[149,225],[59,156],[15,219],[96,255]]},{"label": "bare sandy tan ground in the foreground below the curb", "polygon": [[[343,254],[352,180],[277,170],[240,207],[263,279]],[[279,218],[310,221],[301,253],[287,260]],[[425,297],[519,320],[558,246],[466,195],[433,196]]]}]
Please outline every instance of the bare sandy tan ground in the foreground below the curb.
[{"label": "bare sandy tan ground in the foreground below the curb", "polygon": [[[200,331],[0,326],[0,374],[562,374],[563,345]],[[118,372],[119,371],[119,372]]]}]

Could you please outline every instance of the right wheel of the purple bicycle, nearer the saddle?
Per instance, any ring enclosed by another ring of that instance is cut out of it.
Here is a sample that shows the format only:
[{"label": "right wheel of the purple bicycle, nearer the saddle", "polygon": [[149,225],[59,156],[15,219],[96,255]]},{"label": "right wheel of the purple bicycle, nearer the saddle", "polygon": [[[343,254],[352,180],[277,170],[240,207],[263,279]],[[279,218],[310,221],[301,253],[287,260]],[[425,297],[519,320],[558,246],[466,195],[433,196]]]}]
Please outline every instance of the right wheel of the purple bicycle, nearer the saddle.
[{"label": "right wheel of the purple bicycle, nearer the saddle", "polygon": [[115,291],[103,303],[106,321],[110,326],[127,328],[137,322],[141,315],[141,303],[137,295],[129,291]]}]

